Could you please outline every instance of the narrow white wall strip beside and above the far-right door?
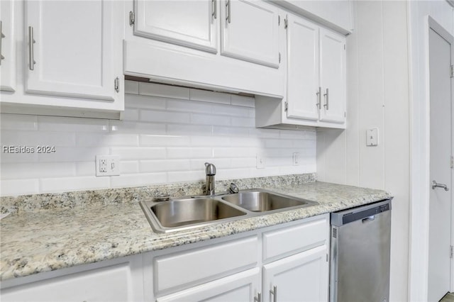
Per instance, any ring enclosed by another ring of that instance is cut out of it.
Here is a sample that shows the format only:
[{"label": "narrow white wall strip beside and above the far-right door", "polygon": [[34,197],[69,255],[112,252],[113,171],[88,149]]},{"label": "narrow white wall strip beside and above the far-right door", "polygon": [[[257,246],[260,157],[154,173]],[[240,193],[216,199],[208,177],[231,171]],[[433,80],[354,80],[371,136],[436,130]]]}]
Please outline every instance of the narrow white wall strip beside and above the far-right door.
[{"label": "narrow white wall strip beside and above the far-right door", "polygon": [[[428,200],[429,200],[429,84],[428,22],[431,16],[454,35],[453,7],[447,1],[409,1],[411,78],[411,301],[428,296]],[[454,280],[451,282],[454,288]]]}]

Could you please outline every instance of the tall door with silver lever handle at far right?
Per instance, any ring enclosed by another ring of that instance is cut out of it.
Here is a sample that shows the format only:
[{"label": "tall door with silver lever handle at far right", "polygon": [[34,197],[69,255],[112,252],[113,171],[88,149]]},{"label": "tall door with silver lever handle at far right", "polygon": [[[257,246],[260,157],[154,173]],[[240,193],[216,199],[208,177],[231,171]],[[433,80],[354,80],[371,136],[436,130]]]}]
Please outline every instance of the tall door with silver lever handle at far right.
[{"label": "tall door with silver lever handle at far right", "polygon": [[[430,180],[428,301],[439,301],[450,289],[451,225],[451,78],[452,36],[429,29],[430,66]],[[443,36],[442,36],[443,35]],[[448,40],[447,40],[448,39]],[[446,191],[441,186],[446,186]]]}]

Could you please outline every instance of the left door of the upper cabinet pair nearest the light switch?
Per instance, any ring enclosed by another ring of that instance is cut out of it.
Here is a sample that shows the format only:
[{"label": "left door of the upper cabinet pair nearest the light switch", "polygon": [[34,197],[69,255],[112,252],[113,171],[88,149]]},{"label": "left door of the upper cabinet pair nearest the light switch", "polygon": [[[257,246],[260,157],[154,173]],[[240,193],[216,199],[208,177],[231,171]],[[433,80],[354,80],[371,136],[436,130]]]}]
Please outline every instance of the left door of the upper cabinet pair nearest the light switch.
[{"label": "left door of the upper cabinet pair nearest the light switch", "polygon": [[287,117],[319,119],[319,26],[287,16]]}]

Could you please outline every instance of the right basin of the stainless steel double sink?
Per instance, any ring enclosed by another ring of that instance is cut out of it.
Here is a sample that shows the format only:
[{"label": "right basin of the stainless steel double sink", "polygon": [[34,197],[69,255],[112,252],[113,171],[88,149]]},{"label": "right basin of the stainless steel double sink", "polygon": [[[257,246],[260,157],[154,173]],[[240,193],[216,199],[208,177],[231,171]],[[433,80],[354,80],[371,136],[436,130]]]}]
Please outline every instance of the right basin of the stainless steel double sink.
[{"label": "right basin of the stainless steel double sink", "polygon": [[238,194],[223,196],[222,199],[253,212],[267,212],[318,204],[315,201],[277,194],[263,189],[245,190]]}]

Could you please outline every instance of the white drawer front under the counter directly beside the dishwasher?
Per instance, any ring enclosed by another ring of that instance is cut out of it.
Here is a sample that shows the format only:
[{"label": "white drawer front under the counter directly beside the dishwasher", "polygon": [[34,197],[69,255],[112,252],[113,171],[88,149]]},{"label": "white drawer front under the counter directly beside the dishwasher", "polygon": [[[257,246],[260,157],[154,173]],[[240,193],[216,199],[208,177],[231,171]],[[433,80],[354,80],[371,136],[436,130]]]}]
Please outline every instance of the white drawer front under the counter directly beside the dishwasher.
[{"label": "white drawer front under the counter directly beside the dishwasher", "polygon": [[322,216],[307,223],[263,233],[263,261],[324,245],[328,230],[328,216]]}]

